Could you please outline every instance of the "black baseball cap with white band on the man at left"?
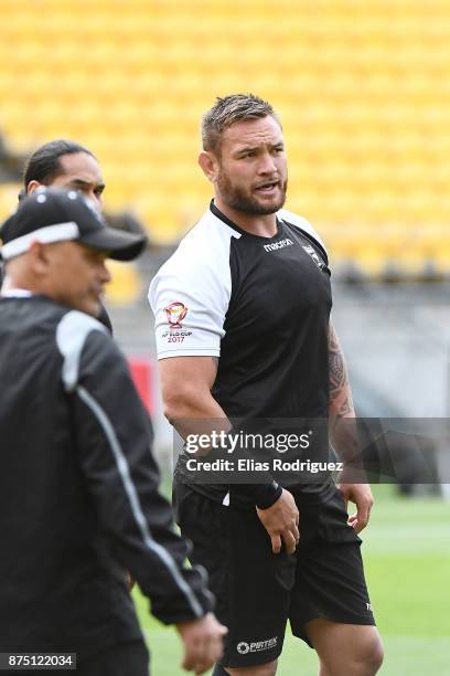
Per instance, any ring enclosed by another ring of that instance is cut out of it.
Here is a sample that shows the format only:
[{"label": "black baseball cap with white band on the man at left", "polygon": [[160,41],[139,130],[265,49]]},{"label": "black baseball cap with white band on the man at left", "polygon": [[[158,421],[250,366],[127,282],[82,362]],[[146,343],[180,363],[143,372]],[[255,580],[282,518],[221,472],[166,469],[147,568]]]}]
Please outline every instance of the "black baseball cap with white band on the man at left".
[{"label": "black baseball cap with white band on the man at left", "polygon": [[2,224],[3,261],[25,253],[33,242],[81,242],[105,251],[109,258],[132,261],[144,249],[147,237],[108,228],[104,218],[78,190],[39,188],[19,203]]}]

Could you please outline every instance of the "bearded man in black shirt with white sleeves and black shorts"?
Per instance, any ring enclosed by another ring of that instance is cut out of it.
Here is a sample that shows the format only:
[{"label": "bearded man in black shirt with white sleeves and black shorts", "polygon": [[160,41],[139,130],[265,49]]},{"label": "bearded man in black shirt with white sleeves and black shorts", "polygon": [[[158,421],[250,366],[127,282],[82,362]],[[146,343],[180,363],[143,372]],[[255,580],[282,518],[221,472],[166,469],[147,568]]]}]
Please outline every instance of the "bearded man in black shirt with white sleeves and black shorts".
[{"label": "bearded man in black shirt with white sleeves and black shorts", "polygon": [[[328,255],[311,225],[283,210],[280,122],[259,97],[232,95],[206,113],[202,131],[200,165],[215,197],[149,294],[165,413],[184,439],[200,419],[229,431],[235,419],[251,426],[330,416],[345,461],[340,422],[354,411],[330,323]],[[328,457],[328,439],[324,446]],[[174,482],[179,522],[229,627],[215,676],[275,674],[287,619],[317,649],[322,676],[375,674],[382,646],[357,537],[369,487],[345,472],[340,489],[331,479],[285,483],[270,473],[257,484],[217,485],[191,480],[186,467],[184,453]],[[350,519],[349,499],[357,506]]]}]

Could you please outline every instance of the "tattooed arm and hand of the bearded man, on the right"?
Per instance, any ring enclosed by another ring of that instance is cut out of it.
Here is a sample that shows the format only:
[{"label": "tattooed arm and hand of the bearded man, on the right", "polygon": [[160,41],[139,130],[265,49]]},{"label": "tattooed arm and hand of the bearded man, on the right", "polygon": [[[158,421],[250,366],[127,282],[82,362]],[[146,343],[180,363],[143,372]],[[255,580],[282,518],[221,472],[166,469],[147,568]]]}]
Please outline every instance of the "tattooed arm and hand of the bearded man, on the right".
[{"label": "tattooed arm and hand of the bearded man, on the right", "polygon": [[341,483],[338,487],[343,494],[345,503],[350,500],[356,505],[356,514],[349,518],[349,524],[353,526],[356,532],[360,532],[368,524],[374,498],[371,487],[365,483],[349,374],[344,353],[331,319],[329,362],[330,441],[334,451],[344,462],[344,471],[341,474]]}]

